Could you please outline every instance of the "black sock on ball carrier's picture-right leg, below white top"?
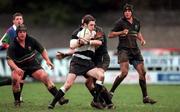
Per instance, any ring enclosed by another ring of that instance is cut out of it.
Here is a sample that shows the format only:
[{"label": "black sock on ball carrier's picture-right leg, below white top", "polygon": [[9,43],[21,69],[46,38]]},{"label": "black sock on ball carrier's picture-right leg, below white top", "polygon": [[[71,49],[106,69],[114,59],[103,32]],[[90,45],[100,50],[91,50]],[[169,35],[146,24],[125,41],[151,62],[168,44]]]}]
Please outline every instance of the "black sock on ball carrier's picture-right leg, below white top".
[{"label": "black sock on ball carrier's picture-right leg, below white top", "polygon": [[100,92],[102,90],[102,85],[95,84],[95,95],[94,95],[94,101],[99,102]]}]

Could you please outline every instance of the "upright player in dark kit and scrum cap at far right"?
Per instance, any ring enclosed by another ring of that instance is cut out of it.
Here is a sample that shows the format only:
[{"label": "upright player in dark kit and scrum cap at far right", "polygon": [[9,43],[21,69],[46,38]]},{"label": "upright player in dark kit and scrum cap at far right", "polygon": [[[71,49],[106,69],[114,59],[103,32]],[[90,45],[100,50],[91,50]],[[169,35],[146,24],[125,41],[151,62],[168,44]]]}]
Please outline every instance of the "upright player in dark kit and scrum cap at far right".
[{"label": "upright player in dark kit and scrum cap at far right", "polygon": [[109,38],[119,37],[118,45],[118,63],[121,68],[121,75],[118,75],[114,81],[114,84],[110,90],[113,95],[115,89],[123,81],[128,74],[129,63],[134,66],[139,74],[139,85],[141,87],[143,95],[143,103],[156,103],[147,94],[146,87],[146,71],[144,68],[143,57],[136,40],[140,40],[141,45],[146,42],[140,32],[140,22],[133,15],[133,6],[126,4],[123,8],[123,17],[120,18],[112,31],[109,34]]}]

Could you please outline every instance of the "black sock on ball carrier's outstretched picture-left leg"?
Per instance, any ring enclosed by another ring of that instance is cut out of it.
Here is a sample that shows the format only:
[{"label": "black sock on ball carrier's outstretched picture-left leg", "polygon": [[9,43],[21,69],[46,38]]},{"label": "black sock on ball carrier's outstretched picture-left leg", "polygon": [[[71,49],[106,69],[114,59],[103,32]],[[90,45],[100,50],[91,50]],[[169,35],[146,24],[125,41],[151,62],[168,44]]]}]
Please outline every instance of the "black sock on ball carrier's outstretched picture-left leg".
[{"label": "black sock on ball carrier's outstretched picture-left leg", "polygon": [[57,94],[55,95],[53,101],[51,102],[52,106],[55,106],[56,103],[64,96],[64,92],[59,89],[59,91],[57,92]]}]

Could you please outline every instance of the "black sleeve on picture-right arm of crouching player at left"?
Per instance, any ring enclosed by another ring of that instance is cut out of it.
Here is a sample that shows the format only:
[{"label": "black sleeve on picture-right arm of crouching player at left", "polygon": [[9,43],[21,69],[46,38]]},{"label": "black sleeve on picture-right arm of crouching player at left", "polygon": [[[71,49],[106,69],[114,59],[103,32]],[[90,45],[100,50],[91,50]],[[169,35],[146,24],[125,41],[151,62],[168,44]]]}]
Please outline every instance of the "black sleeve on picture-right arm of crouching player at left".
[{"label": "black sleeve on picture-right arm of crouching player at left", "polygon": [[34,49],[37,50],[39,53],[42,53],[45,48],[35,38],[32,38],[32,37],[29,37],[29,38],[32,40]]}]

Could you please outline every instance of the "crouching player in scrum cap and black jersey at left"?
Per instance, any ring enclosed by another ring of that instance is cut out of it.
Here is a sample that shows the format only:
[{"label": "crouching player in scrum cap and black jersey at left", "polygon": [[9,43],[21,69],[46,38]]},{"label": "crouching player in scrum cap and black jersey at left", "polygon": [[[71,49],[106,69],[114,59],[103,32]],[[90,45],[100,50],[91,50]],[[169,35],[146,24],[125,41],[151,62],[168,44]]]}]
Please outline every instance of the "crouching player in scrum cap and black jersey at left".
[{"label": "crouching player in scrum cap and black jersey at left", "polygon": [[7,62],[12,70],[15,106],[20,106],[20,83],[24,82],[27,75],[43,82],[48,91],[55,96],[58,90],[41,67],[36,55],[36,51],[38,51],[47,65],[53,69],[54,65],[51,63],[46,49],[37,40],[27,35],[25,25],[19,25],[16,34],[17,37],[10,43],[7,50]]}]

